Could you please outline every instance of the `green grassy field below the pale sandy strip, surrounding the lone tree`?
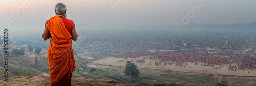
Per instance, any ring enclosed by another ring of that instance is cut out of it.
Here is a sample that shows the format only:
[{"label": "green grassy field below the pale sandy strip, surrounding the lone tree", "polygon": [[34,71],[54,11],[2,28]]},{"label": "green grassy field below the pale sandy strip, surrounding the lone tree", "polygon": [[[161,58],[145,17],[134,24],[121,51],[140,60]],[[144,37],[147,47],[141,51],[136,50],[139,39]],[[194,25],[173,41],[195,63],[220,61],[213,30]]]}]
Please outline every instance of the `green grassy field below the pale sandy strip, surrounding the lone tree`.
[{"label": "green grassy field below the pale sandy strip, surrounding the lone tree", "polygon": [[[147,69],[138,68],[140,75],[137,78],[132,79],[124,74],[124,67],[118,66],[106,66],[99,65],[97,63],[90,63],[88,66],[100,69],[100,71],[87,74],[83,74],[88,78],[105,77],[115,79],[120,82],[126,83],[139,83],[140,85],[154,85],[154,84],[181,84],[181,85],[216,85],[217,83],[223,83],[227,85],[254,85],[256,84],[256,78],[253,77],[222,77],[212,74],[193,73],[193,72],[180,72],[170,71],[163,69]],[[77,71],[77,70],[76,70]],[[104,79],[104,78],[103,78]]]}]

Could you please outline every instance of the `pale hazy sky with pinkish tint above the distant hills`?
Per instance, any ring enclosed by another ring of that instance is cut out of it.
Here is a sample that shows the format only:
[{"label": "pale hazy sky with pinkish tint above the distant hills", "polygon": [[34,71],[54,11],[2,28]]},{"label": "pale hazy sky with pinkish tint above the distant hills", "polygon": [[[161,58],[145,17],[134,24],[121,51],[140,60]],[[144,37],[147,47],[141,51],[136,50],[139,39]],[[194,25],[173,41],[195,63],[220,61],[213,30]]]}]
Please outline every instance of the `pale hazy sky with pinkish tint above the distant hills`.
[{"label": "pale hazy sky with pinkish tint above the distant hills", "polygon": [[[29,0],[0,0],[0,28],[8,27],[5,17],[12,19],[13,12],[19,9],[21,12],[9,24],[9,29],[43,30],[46,20],[55,15],[54,6],[58,2],[66,5],[67,16],[76,25],[170,25],[181,23],[181,14],[193,11],[189,6],[199,5],[200,0],[33,0],[30,4],[26,3],[29,5],[27,8],[20,1]],[[113,10],[110,1],[119,6]],[[201,7],[189,23],[250,23],[256,21],[255,4],[253,0],[205,0],[205,7]]]}]

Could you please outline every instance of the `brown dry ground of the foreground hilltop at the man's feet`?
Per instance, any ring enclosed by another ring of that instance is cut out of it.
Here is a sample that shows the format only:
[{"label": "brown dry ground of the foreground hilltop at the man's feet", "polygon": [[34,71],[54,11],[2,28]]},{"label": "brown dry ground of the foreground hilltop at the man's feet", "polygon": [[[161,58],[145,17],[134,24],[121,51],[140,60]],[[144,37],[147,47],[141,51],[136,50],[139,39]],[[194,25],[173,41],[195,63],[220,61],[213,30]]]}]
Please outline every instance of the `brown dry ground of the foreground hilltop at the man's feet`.
[{"label": "brown dry ground of the foreground hilltop at the man's feet", "polygon": [[[9,78],[9,81],[6,82],[4,80],[0,81],[1,85],[10,85],[10,86],[16,86],[16,85],[50,85],[50,78],[49,78],[49,73],[43,73],[39,76],[18,76],[18,77],[13,77]],[[87,79],[87,78],[72,78],[72,85],[120,85],[120,86],[136,86],[136,84],[125,84],[121,83],[115,80],[106,80],[106,79]]]}]

